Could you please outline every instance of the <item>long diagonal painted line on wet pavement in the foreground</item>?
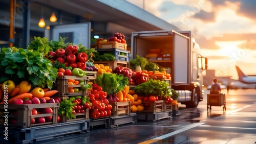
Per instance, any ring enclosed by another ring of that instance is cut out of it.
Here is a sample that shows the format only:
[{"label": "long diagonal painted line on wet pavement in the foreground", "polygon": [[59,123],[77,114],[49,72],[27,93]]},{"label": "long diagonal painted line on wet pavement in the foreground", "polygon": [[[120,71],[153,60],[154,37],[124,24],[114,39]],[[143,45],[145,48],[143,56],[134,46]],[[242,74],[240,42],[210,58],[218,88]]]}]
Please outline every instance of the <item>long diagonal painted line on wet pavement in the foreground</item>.
[{"label": "long diagonal painted line on wet pavement in the foreground", "polygon": [[184,132],[186,130],[189,130],[189,129],[192,129],[192,128],[195,128],[195,127],[198,127],[200,125],[203,125],[205,123],[194,123],[194,124],[190,124],[190,125],[187,125],[185,126],[184,128],[182,129],[179,129],[177,131],[174,131],[174,132],[170,132],[170,133],[167,133],[165,135],[162,135],[162,136],[159,136],[159,137],[156,137],[156,138],[153,138],[153,139],[150,139],[150,140],[146,140],[146,141],[143,141],[143,142],[140,142],[138,144],[148,144],[148,143],[153,143],[153,142],[156,142],[156,141],[159,141],[161,139],[164,139],[164,138],[167,138],[167,137],[170,137],[170,136],[173,136],[175,134],[178,134],[178,133],[181,133],[181,132]]}]

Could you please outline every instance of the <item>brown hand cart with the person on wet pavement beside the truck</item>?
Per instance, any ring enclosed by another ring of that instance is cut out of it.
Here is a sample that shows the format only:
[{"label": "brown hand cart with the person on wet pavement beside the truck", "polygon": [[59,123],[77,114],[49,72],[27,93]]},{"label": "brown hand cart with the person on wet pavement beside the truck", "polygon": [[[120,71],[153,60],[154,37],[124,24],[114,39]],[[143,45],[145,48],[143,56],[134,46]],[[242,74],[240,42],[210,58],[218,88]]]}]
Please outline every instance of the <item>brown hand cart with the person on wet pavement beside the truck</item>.
[{"label": "brown hand cart with the person on wet pavement beside the truck", "polygon": [[211,106],[224,106],[222,110],[226,111],[226,95],[224,93],[207,94],[207,112],[208,108],[211,111]]}]

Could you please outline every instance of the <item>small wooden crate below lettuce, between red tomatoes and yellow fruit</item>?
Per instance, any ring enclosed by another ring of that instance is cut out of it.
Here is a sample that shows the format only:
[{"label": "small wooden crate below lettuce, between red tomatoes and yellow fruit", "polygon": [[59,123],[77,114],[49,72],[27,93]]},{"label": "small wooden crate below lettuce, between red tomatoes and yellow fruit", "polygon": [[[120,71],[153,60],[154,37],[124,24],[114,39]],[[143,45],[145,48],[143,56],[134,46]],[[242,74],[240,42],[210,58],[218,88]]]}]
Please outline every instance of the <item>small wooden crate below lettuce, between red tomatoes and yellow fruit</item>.
[{"label": "small wooden crate below lettuce, between red tomatoes and yellow fruit", "polygon": [[112,105],[111,116],[130,115],[131,102],[110,102]]}]

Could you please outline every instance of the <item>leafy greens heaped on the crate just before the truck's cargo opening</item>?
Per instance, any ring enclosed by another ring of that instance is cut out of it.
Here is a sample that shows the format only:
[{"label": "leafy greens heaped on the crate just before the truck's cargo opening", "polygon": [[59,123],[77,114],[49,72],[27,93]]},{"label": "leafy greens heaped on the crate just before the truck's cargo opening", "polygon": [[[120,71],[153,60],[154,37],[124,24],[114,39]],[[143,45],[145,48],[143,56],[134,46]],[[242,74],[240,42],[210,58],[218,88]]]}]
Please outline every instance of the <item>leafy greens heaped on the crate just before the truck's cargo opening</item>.
[{"label": "leafy greens heaped on the crate just before the truck's cargo opening", "polygon": [[172,92],[170,92],[169,88],[167,87],[168,85],[169,84],[165,81],[150,79],[139,84],[134,88],[134,91],[136,94],[143,95],[145,97],[157,95],[158,97],[162,96],[165,98],[172,95]]}]

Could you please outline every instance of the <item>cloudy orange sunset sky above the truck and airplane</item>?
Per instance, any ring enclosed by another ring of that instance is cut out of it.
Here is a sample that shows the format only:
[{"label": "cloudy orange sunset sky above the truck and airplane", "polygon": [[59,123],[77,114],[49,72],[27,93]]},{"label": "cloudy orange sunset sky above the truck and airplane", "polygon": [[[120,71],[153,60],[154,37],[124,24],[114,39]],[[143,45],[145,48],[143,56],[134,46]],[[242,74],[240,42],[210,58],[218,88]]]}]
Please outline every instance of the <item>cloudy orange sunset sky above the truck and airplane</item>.
[{"label": "cloudy orange sunset sky above the truck and airplane", "polygon": [[[127,0],[143,8],[143,0]],[[238,79],[235,65],[256,75],[256,1],[144,0],[144,9],[191,30],[216,76]]]}]

